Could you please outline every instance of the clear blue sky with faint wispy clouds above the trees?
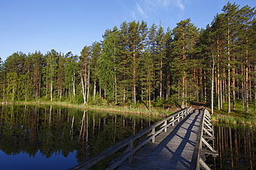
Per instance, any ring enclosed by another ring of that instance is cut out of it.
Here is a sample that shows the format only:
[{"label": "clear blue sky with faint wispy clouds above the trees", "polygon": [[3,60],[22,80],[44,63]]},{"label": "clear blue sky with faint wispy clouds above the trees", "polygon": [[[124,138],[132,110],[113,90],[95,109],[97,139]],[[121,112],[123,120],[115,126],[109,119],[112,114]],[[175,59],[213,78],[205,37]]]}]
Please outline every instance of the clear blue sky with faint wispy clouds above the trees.
[{"label": "clear blue sky with faint wispy clouds above the trees", "polygon": [[[14,52],[47,51],[80,55],[85,45],[101,41],[104,31],[123,21],[146,21],[173,29],[191,19],[205,28],[228,1],[224,0],[1,0],[0,57]],[[255,0],[230,1],[240,7]]]}]

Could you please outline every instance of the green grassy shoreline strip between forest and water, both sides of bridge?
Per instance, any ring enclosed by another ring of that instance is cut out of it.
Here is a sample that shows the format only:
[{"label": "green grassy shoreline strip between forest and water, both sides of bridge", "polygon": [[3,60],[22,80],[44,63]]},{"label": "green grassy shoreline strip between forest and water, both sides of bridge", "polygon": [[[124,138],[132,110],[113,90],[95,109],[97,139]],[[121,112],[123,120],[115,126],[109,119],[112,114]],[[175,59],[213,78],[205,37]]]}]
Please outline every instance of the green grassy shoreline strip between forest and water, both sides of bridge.
[{"label": "green grassy shoreline strip between forest and water, both sides of bridge", "polygon": [[[152,107],[149,111],[143,104],[137,105],[75,105],[67,102],[49,102],[49,101],[33,101],[33,102],[19,102],[13,104],[32,104],[32,105],[63,105],[68,107],[75,107],[80,109],[93,109],[98,111],[108,111],[112,113],[124,113],[124,114],[137,114],[144,116],[158,116],[165,117],[177,111],[177,108],[167,111],[161,107]],[[256,125],[256,107],[255,103],[250,103],[250,112],[246,113],[245,108],[241,103],[237,102],[236,109],[232,109],[228,114],[228,105],[223,104],[223,109],[217,110],[214,108],[214,114],[212,115],[212,121],[219,123],[228,123],[233,125]]]}]

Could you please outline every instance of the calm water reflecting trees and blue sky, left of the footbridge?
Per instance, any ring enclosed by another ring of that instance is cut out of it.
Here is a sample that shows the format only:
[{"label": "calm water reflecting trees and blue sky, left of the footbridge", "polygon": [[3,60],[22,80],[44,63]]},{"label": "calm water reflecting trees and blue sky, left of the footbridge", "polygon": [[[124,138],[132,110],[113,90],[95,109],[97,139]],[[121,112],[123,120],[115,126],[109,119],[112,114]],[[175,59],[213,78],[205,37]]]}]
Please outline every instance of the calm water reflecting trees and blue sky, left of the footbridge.
[{"label": "calm water reflecting trees and blue sky, left of the footbridge", "polygon": [[0,169],[68,169],[153,118],[56,106],[0,107]]}]

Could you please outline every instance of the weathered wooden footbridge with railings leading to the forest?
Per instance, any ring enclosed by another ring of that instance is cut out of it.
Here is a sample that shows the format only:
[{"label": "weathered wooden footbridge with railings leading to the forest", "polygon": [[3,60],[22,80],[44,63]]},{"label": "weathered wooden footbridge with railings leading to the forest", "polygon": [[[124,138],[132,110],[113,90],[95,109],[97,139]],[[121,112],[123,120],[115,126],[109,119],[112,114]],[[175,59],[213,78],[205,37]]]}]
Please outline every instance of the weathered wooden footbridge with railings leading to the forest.
[{"label": "weathered wooden footbridge with railings leading to the forest", "polygon": [[218,155],[213,139],[209,112],[188,107],[71,169],[90,169],[117,151],[122,153],[107,169],[210,169],[204,160],[205,154]]}]

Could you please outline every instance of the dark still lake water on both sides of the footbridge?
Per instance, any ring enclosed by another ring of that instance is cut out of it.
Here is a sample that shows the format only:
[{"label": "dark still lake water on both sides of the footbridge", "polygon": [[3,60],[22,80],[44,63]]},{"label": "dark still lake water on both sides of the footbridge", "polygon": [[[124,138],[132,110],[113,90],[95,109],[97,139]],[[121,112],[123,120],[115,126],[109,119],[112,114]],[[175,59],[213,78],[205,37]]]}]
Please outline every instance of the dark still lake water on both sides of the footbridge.
[{"label": "dark still lake water on both sides of the footbridge", "polygon": [[[2,105],[0,169],[68,169],[159,119],[53,105]],[[219,156],[206,161],[212,169],[256,169],[255,127],[214,123],[214,134]],[[95,169],[104,169],[106,162]]]}]

